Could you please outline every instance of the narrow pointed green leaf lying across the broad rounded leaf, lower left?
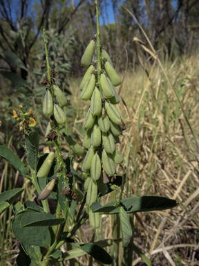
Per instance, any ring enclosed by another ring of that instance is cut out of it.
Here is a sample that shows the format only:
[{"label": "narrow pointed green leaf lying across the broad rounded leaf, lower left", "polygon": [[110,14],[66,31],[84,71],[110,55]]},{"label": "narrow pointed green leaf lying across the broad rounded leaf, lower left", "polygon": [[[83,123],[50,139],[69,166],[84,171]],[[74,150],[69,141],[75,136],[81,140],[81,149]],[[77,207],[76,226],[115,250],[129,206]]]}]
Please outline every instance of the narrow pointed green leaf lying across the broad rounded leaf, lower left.
[{"label": "narrow pointed green leaf lying across the broad rounded leaf, lower left", "polygon": [[61,224],[64,218],[57,219],[50,213],[28,212],[21,218],[21,227],[53,227]]}]

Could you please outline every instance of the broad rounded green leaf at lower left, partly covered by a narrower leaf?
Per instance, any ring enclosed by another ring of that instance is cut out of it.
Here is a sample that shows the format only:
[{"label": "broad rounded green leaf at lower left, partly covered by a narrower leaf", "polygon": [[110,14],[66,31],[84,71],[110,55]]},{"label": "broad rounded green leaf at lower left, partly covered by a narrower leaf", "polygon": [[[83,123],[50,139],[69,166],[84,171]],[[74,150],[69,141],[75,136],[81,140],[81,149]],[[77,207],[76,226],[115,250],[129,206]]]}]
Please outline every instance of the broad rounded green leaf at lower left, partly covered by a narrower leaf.
[{"label": "broad rounded green leaf at lower left, partly covered by a narrower leaf", "polygon": [[33,246],[50,247],[51,237],[48,227],[24,227],[20,225],[21,219],[29,211],[18,213],[12,220],[12,231],[19,241]]}]

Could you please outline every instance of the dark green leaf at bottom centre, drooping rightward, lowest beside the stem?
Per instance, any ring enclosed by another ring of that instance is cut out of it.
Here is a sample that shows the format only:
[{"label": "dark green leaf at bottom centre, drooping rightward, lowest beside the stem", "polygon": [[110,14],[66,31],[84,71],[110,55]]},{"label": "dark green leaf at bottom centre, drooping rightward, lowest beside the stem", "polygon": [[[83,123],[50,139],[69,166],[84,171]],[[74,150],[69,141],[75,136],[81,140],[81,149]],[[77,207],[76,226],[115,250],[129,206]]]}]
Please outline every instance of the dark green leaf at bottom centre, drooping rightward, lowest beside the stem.
[{"label": "dark green leaf at bottom centre, drooping rightward, lowest beside the stem", "polygon": [[111,264],[113,262],[111,256],[106,252],[106,250],[102,249],[98,245],[92,243],[78,244],[78,243],[70,243],[75,247],[79,247],[89,255],[91,255],[95,260],[98,260],[100,263]]}]

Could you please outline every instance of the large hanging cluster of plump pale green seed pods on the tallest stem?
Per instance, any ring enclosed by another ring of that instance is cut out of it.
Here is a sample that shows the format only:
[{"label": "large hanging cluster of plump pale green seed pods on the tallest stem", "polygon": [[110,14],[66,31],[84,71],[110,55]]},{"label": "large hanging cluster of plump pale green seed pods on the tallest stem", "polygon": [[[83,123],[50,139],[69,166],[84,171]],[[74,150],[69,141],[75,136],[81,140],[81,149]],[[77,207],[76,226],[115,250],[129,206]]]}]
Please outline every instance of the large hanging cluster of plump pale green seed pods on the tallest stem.
[{"label": "large hanging cluster of plump pale green seed pods on the tallest stem", "polygon": [[[108,176],[116,174],[115,163],[123,161],[122,155],[115,147],[119,143],[124,125],[122,115],[117,110],[120,96],[115,86],[121,84],[120,77],[113,68],[113,63],[108,53],[100,47],[102,63],[100,69],[100,86],[97,82],[97,62],[92,62],[95,53],[95,36],[86,47],[82,56],[82,65],[88,67],[80,84],[82,100],[91,100],[84,128],[86,135],[83,146],[87,151],[82,171],[87,173],[84,189],[87,191],[86,203],[90,206],[89,220],[91,227],[99,227],[99,213],[91,211],[91,204],[97,200],[97,191],[104,195],[108,192]],[[98,73],[99,75],[99,73]],[[105,178],[104,178],[105,177]]]}]

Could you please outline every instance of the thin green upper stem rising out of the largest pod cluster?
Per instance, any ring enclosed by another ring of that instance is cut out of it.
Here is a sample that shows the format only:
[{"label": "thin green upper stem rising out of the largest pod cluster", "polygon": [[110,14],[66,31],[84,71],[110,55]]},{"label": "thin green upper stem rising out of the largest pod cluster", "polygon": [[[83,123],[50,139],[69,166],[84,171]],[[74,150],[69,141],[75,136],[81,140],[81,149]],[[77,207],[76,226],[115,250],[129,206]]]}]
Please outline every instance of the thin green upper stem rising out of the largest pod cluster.
[{"label": "thin green upper stem rising out of the largest pod cluster", "polygon": [[101,97],[103,98],[102,94],[102,86],[100,83],[100,71],[101,71],[101,49],[100,49],[100,39],[99,39],[99,10],[97,5],[97,0],[95,0],[95,6],[96,6],[96,18],[97,18],[97,82],[99,84],[99,91],[101,94]]}]

